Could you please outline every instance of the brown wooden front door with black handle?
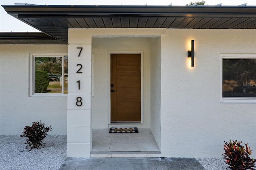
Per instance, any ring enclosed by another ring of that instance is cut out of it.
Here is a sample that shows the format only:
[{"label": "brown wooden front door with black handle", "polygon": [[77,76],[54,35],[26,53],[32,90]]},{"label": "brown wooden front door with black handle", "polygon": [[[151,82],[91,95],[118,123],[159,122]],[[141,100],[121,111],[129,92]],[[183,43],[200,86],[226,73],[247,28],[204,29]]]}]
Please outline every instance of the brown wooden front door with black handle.
[{"label": "brown wooden front door with black handle", "polygon": [[111,54],[111,121],[141,121],[140,54]]}]

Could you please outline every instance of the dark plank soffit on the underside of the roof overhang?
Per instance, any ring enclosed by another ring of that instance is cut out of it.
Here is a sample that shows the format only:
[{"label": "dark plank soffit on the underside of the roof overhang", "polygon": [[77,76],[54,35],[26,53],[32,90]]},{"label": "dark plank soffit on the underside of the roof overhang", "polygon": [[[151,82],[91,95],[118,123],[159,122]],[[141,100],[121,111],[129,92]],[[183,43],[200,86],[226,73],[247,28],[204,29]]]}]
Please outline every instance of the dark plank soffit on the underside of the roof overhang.
[{"label": "dark plank soffit on the underside of the roof overhang", "polygon": [[[68,41],[68,28],[192,28],[239,29],[256,28],[255,18],[220,17],[153,17],[153,18],[47,18],[22,19],[29,25],[61,41]],[[63,35],[63,36],[60,36]]]}]

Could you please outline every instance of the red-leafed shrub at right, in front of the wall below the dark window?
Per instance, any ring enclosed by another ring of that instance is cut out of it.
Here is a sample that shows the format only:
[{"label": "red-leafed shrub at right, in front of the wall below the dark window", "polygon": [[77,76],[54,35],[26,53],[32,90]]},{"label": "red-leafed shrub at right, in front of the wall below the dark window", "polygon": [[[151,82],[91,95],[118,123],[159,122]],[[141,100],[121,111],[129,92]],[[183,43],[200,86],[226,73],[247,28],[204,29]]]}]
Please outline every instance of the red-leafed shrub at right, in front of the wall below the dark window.
[{"label": "red-leafed shrub at right, in front of the wall below the dark window", "polygon": [[[254,167],[256,160],[250,158],[252,150],[248,148],[248,143],[245,144],[245,147],[240,145],[242,141],[231,141],[230,143],[225,142],[224,150],[225,153],[222,154],[224,159],[226,159],[226,164],[231,170],[256,170]],[[227,169],[228,169],[227,168]]]}]

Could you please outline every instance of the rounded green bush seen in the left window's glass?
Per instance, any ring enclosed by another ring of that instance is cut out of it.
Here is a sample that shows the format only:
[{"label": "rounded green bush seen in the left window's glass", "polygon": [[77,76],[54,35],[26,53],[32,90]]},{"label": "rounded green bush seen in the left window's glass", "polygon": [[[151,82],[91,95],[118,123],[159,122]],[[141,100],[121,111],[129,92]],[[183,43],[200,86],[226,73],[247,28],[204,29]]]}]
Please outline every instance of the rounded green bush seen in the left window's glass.
[{"label": "rounded green bush seen in the left window's glass", "polygon": [[49,82],[47,71],[35,70],[35,93],[46,93]]}]

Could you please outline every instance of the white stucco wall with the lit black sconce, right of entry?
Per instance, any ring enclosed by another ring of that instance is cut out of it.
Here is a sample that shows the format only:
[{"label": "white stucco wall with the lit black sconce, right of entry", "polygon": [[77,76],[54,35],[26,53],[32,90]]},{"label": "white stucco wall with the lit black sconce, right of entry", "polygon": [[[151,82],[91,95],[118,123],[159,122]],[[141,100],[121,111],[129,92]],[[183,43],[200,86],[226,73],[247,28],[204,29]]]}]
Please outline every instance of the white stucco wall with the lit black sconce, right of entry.
[{"label": "white stucco wall with the lit black sconce, right of entry", "polygon": [[[190,41],[195,42],[190,67]],[[255,29],[166,29],[161,61],[161,155],[222,157],[224,141],[256,157],[256,104],[221,103],[220,53],[256,53]]]}]

